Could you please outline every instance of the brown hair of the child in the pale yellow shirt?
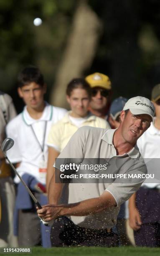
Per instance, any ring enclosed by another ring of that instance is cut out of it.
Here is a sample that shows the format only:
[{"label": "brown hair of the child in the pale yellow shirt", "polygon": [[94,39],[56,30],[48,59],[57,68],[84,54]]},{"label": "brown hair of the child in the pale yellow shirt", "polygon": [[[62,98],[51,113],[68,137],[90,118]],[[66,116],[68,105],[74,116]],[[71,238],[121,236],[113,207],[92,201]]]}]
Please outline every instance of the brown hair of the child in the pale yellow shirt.
[{"label": "brown hair of the child in the pale yellow shirt", "polygon": [[71,96],[71,92],[76,89],[76,88],[81,88],[86,90],[88,93],[89,97],[91,97],[91,87],[90,85],[86,82],[85,79],[83,78],[74,78],[72,79],[69,84],[67,85],[66,89],[66,95]]}]

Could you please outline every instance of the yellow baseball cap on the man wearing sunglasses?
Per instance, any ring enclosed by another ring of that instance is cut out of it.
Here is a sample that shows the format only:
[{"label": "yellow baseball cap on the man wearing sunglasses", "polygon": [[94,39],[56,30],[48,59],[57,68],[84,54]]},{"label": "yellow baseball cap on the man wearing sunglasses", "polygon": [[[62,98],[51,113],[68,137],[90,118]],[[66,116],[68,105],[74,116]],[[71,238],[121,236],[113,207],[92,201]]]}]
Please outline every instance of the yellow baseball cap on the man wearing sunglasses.
[{"label": "yellow baseball cap on the man wearing sunglasses", "polygon": [[111,90],[111,81],[105,74],[96,72],[87,76],[85,80],[89,83],[91,88],[102,87],[106,90]]}]

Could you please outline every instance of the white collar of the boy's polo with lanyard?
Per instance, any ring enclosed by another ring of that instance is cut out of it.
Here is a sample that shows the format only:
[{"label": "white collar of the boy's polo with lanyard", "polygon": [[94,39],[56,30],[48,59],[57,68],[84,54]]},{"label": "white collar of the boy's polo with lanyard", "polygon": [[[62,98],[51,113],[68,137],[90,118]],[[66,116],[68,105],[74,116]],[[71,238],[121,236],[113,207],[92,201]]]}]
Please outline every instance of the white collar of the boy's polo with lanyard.
[{"label": "white collar of the boy's polo with lanyard", "polygon": [[53,115],[53,107],[51,105],[49,105],[47,102],[45,102],[45,108],[43,110],[43,114],[41,116],[41,118],[37,119],[33,119],[28,111],[27,111],[27,106],[24,107],[24,110],[22,112],[22,116],[23,116],[23,121],[27,124],[27,125],[32,125],[33,123],[36,123],[37,121],[41,120],[41,121],[49,121],[52,118]]}]

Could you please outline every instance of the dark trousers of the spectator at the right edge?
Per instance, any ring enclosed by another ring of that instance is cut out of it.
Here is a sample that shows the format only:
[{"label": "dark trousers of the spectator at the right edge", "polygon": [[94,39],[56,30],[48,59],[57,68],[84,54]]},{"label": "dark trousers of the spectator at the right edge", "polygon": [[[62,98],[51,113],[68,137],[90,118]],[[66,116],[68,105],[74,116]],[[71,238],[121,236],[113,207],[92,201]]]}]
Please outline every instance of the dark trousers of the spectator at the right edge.
[{"label": "dark trousers of the spectator at the right edge", "polygon": [[140,229],[134,231],[136,246],[160,247],[160,191],[140,187],[136,206],[142,221]]}]

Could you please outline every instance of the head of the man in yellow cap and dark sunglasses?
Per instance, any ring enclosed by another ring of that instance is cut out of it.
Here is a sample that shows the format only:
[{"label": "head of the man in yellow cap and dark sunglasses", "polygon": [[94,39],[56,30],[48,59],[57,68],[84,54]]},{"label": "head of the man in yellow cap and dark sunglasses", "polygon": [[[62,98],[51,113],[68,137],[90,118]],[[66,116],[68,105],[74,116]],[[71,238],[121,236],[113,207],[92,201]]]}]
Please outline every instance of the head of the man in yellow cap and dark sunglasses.
[{"label": "head of the man in yellow cap and dark sunglasses", "polygon": [[94,73],[87,76],[86,81],[92,89],[92,97],[89,110],[94,115],[107,119],[111,100],[111,81],[108,76],[102,73]]}]

